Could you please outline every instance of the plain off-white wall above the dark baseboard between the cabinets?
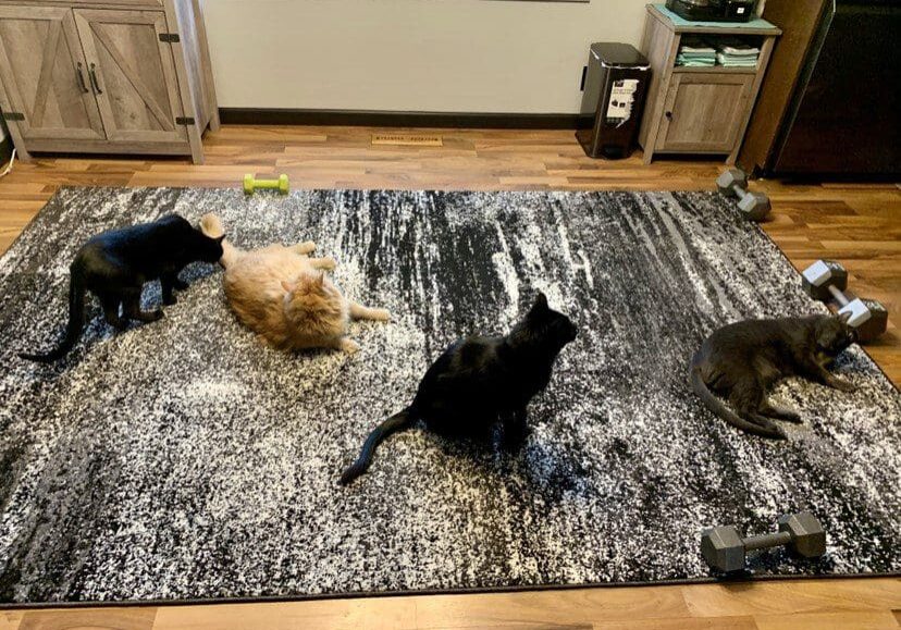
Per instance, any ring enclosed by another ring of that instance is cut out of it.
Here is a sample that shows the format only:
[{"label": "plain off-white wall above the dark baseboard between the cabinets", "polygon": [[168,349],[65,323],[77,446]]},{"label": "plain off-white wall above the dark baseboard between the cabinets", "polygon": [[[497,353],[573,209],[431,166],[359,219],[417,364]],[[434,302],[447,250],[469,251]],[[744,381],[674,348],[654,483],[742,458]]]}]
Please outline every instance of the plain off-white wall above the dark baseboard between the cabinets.
[{"label": "plain off-white wall above the dark baseboard between the cabinets", "polygon": [[645,0],[203,0],[220,107],[576,113]]}]

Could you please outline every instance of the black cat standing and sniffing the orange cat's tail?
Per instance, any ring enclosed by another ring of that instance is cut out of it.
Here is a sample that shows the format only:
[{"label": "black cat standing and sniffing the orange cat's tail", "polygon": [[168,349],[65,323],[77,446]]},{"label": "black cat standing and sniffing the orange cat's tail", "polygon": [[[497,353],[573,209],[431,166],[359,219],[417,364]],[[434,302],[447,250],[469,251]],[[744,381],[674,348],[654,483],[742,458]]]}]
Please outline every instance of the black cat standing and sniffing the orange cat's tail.
[{"label": "black cat standing and sniffing the orange cat's tail", "polygon": [[[177,214],[111,230],[92,236],[75,255],[70,265],[69,324],[60,345],[46,354],[18,356],[49,363],[62,358],[78,339],[85,319],[85,294],[90,291],[100,299],[110,325],[122,330],[128,319],[143,322],[159,320],[163,313],[140,310],[144,283],[159,279],[163,304],[175,304],[174,289],[187,288],[178,272],[196,261],[215,262],[222,257],[222,238],[210,238]],[[119,313],[122,305],[125,317]]]}]

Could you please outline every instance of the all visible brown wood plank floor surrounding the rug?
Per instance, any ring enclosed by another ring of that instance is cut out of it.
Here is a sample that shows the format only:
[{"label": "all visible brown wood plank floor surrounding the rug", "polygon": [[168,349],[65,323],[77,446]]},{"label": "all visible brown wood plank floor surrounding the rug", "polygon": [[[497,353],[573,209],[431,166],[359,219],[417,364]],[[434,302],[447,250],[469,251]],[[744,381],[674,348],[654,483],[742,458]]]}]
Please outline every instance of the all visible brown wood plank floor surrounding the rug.
[{"label": "all visible brown wood plank floor surrounding the rug", "polygon": [[[225,126],[205,139],[207,163],[182,159],[41,158],[0,180],[0,250],[61,185],[231,186],[246,172],[287,173],[295,188],[712,189],[724,168],[640,153],[584,157],[565,131],[410,129],[442,147],[371,146],[367,127]],[[400,129],[388,129],[400,133]],[[867,350],[901,382],[901,189],[893,184],[757,182],[773,199],[764,228],[792,263],[836,258],[850,286],[889,309],[889,332]],[[0,612],[0,630],[319,628],[517,630],[898,629],[901,580],[581,589],[318,602]]]}]

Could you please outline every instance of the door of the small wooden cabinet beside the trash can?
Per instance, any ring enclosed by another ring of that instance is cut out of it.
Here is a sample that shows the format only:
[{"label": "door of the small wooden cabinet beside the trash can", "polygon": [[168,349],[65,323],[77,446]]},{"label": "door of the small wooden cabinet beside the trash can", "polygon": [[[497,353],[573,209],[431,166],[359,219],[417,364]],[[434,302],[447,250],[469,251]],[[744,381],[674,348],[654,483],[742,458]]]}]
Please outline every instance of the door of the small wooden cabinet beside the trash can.
[{"label": "door of the small wooden cabinet beside the trash can", "polygon": [[749,113],[753,83],[753,74],[676,73],[657,150],[731,152]]}]

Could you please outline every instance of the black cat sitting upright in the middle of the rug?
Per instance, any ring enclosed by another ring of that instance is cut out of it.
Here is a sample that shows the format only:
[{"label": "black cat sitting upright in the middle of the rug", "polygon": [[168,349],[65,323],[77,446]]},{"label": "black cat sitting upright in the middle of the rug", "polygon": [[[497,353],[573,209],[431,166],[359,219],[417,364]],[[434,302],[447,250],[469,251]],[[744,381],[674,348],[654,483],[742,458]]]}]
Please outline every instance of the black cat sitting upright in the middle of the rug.
[{"label": "black cat sitting upright in the middle of the rug", "polygon": [[554,360],[575,338],[569,318],[552,310],[539,294],[508,335],[454,342],[425,372],[412,404],[369,434],[341,483],[365,473],[379,443],[419,419],[430,431],[456,437],[483,437],[501,421],[505,444],[518,448],[528,431],[526,406],[547,386]]}]

